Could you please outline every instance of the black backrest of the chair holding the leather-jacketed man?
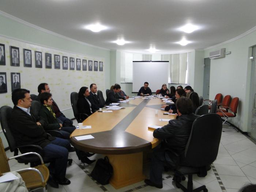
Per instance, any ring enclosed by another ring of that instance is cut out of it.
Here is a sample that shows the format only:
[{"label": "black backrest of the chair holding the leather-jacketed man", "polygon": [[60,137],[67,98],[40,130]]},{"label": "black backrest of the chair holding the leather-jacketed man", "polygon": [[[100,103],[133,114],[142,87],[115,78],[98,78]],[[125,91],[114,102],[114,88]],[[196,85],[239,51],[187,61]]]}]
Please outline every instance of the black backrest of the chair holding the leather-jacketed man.
[{"label": "black backrest of the chair holding the leather-jacketed man", "polygon": [[221,141],[222,120],[218,114],[206,114],[196,118],[185,148],[185,160],[189,166],[211,165],[217,158]]}]

